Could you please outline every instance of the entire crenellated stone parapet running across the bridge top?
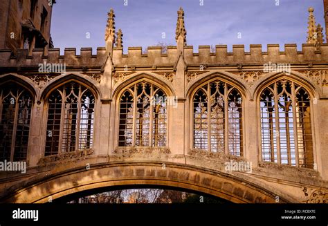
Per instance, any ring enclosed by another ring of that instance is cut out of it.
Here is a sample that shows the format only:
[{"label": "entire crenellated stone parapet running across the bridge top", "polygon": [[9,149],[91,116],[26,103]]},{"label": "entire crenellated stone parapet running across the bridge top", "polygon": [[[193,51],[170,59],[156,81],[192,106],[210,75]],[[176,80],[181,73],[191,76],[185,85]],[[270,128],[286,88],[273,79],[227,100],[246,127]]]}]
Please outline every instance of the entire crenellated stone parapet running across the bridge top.
[{"label": "entire crenellated stone parapet running across the bridge top", "polygon": [[[112,59],[116,66],[125,65],[175,65],[180,53],[176,46],[168,46],[163,54],[160,46],[147,48],[143,53],[141,47],[129,47],[127,54],[122,48],[113,48]],[[197,64],[266,64],[268,62],[284,64],[326,64],[328,62],[328,44],[321,44],[316,50],[313,44],[302,44],[302,51],[297,50],[296,44],[285,44],[284,51],[280,51],[278,44],[268,44],[267,51],[262,45],[250,45],[249,52],[245,52],[244,45],[233,45],[233,51],[228,52],[226,45],[215,46],[215,53],[211,53],[210,46],[199,46],[198,53],[194,53],[193,46],[184,47],[184,59],[188,65]],[[97,54],[92,54],[92,48],[81,48],[80,55],[76,55],[75,48],[65,48],[64,55],[60,55],[59,48],[51,48],[44,56],[42,49],[34,49],[28,56],[25,49],[17,50],[13,56],[10,50],[0,50],[1,67],[37,66],[44,62],[66,64],[66,66],[99,66],[104,64],[106,49],[97,48]]]}]

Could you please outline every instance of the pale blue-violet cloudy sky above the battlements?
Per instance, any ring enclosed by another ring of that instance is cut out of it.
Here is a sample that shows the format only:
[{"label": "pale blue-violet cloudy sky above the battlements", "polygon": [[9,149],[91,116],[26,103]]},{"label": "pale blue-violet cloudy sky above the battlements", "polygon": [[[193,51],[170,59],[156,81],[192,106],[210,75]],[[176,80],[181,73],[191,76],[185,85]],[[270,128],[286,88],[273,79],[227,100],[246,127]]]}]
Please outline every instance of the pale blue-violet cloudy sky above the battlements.
[{"label": "pale blue-violet cloudy sky above the battlements", "polygon": [[[202,5],[202,6],[201,6]],[[105,46],[107,12],[113,8],[116,32],[122,29],[127,47],[176,45],[179,7],[185,11],[187,44],[194,46],[234,44],[302,44],[307,40],[308,8],[325,27],[323,0],[57,0],[53,6],[51,37],[55,48]],[[323,31],[325,35],[325,30]]]}]

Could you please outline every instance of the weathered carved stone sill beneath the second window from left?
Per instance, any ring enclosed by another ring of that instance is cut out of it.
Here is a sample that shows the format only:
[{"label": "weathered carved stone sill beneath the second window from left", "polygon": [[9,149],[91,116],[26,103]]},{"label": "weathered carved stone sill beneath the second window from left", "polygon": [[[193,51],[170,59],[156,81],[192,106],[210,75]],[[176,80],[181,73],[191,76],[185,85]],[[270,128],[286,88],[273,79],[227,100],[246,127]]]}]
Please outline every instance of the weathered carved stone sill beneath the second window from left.
[{"label": "weathered carved stone sill beneath the second window from left", "polygon": [[48,165],[55,164],[56,162],[75,162],[78,160],[84,160],[87,156],[91,156],[93,153],[94,151],[92,149],[64,152],[55,156],[46,156],[41,158],[37,164]]}]

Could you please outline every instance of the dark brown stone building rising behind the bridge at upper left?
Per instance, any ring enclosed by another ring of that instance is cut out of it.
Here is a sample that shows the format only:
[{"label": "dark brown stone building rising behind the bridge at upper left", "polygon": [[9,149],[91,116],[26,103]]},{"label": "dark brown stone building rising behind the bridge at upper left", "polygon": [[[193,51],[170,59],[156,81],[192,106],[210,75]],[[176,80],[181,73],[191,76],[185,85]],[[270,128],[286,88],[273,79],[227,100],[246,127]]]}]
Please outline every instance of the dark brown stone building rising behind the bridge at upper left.
[{"label": "dark brown stone building rising behind the bridge at upper left", "polygon": [[51,14],[55,0],[1,0],[0,49],[53,48]]}]

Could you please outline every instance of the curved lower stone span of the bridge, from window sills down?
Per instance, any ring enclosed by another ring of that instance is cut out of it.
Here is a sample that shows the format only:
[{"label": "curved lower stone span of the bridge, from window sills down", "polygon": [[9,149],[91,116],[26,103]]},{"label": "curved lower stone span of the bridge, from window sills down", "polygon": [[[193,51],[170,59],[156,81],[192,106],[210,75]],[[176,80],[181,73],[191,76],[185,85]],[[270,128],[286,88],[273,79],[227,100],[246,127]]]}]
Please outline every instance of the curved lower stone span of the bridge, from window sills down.
[{"label": "curved lower stone span of the bridge, from window sills down", "polygon": [[251,173],[226,172],[230,160],[240,161],[146,149],[111,156],[79,151],[48,159],[26,174],[7,173],[1,178],[1,202],[46,203],[81,191],[136,185],[201,192],[233,203],[327,202],[327,181],[316,171],[259,164]]}]

